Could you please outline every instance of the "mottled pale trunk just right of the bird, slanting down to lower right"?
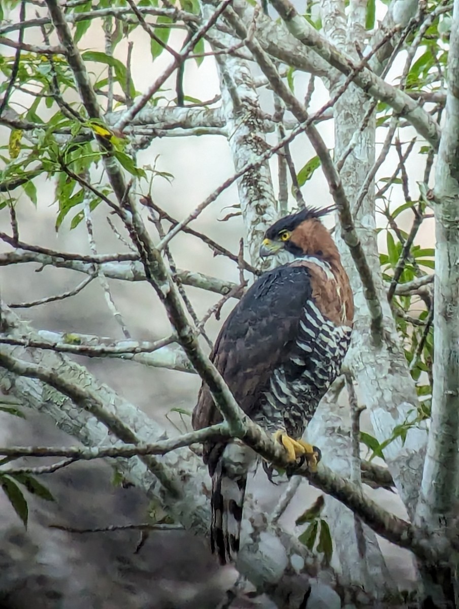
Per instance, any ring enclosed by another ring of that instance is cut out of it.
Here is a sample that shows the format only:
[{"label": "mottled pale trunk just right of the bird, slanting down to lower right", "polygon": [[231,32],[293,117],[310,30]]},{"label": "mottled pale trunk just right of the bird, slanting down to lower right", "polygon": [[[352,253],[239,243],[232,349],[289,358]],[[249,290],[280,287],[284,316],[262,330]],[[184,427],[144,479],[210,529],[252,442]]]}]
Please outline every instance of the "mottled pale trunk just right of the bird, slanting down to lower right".
[{"label": "mottled pale trunk just right of the bird, slanting down to lower right", "polygon": [[[348,37],[344,49],[340,51],[351,53],[355,52],[353,49],[354,40]],[[331,93],[333,94],[333,91]],[[350,152],[340,172],[347,197],[355,202],[374,163],[374,120],[370,119],[369,126],[361,130],[368,110],[368,100],[356,85],[351,84],[347,88],[337,100],[335,110],[342,118],[335,122],[335,157],[341,158],[356,134],[358,138],[357,145]],[[370,411],[375,436],[383,442],[392,435],[394,426],[407,419],[410,410],[416,407],[418,398],[404,353],[399,347],[393,315],[380,275],[379,253],[374,233],[375,203],[371,194],[366,195],[363,200],[355,223],[383,309],[385,340],[381,348],[372,344],[368,327],[368,308],[360,278],[350,262],[347,248],[338,239],[341,255],[350,275],[355,303],[354,332],[347,362],[357,380],[360,401]],[[411,429],[403,446],[399,440],[395,440],[385,450],[386,462],[397,490],[411,515],[418,497],[426,440],[425,431]]]}]

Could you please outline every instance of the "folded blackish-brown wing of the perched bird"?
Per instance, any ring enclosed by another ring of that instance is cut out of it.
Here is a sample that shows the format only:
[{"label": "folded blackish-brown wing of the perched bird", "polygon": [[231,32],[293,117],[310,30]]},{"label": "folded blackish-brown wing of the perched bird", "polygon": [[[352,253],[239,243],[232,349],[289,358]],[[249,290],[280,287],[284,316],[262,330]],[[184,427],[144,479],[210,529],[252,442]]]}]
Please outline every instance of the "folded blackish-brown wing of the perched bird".
[{"label": "folded blackish-brown wing of the perched bird", "polygon": [[[277,267],[255,281],[222,326],[210,358],[247,414],[253,416],[272,371],[288,358],[311,292],[306,267]],[[203,384],[193,428],[219,421],[221,415]]]}]

